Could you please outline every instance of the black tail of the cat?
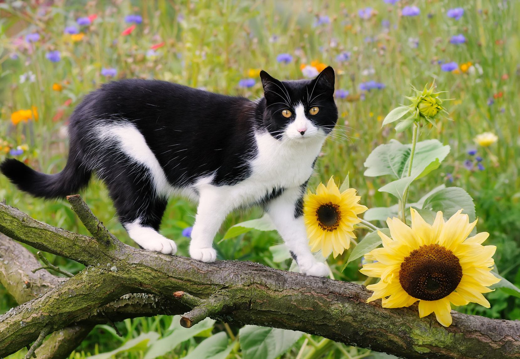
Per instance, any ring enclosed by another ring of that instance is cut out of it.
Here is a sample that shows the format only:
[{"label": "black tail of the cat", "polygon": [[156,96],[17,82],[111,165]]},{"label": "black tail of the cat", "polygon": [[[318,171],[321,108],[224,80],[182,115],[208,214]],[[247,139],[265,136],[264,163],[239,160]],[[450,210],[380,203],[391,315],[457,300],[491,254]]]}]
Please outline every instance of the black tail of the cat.
[{"label": "black tail of the cat", "polygon": [[[72,161],[71,161],[72,160]],[[34,171],[14,158],[0,164],[0,171],[19,189],[36,197],[63,198],[75,195],[88,185],[91,171],[85,169],[81,160],[71,159],[60,173],[45,174]]]}]

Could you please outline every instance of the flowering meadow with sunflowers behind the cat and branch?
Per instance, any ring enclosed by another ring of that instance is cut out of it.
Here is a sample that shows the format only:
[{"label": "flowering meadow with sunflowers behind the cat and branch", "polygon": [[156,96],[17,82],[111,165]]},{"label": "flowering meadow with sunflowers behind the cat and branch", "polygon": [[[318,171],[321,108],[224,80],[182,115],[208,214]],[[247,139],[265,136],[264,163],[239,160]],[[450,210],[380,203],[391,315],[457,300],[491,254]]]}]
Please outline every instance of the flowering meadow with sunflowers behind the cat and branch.
[{"label": "flowering meadow with sunflowers behind the cat and branch", "polygon": [[[60,172],[70,114],[109,81],[163,80],[257,99],[261,70],[298,80],[331,66],[339,120],[303,211],[329,278],[367,286],[372,304],[413,304],[418,317],[433,313],[443,328],[452,325],[451,310],[520,319],[518,19],[513,0],[3,1],[0,160]],[[113,235],[137,248],[101,181],[81,195]],[[31,197],[0,175],[3,198],[38,221],[90,235],[65,199]],[[168,202],[160,232],[178,255],[188,256],[196,209],[188,199]],[[274,229],[261,207],[231,213],[214,240],[217,260],[298,272]],[[39,255],[60,277],[85,270]],[[432,281],[423,269],[438,263],[444,277]],[[0,314],[21,304],[2,284]],[[186,329],[170,315],[108,320],[61,357],[395,358],[268,324],[207,317]]]}]

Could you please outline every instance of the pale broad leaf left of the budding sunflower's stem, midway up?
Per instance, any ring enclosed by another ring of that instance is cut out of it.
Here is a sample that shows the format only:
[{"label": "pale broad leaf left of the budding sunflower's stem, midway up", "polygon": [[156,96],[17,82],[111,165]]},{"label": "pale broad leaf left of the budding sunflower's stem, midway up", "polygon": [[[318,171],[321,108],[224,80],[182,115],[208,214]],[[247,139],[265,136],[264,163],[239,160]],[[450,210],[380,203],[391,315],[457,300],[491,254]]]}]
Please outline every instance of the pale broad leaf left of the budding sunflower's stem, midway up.
[{"label": "pale broad leaf left of the budding sunflower's stem, midway up", "polygon": [[411,146],[403,145],[396,139],[391,139],[388,144],[376,147],[363,165],[367,168],[364,175],[368,177],[391,174],[401,178],[406,161],[410,157]]}]

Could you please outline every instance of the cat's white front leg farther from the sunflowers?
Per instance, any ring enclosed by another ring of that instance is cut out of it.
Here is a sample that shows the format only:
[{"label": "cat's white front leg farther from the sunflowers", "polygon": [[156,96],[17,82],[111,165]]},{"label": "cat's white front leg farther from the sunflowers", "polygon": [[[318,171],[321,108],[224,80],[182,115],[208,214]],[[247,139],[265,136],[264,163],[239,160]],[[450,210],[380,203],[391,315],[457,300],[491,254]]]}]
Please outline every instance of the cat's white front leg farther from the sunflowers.
[{"label": "cat's white front leg farther from the sunflowers", "polygon": [[222,187],[205,186],[200,190],[199,206],[191,232],[191,258],[206,263],[215,261],[217,252],[213,248],[213,238],[231,210],[229,195],[223,193]]}]

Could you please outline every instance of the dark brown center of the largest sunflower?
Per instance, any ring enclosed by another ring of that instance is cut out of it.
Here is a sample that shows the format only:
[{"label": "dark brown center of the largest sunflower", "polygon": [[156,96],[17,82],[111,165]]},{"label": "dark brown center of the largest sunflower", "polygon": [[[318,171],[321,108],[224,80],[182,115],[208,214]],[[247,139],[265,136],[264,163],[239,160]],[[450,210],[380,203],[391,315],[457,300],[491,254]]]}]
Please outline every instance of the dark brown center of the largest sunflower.
[{"label": "dark brown center of the largest sunflower", "polygon": [[462,267],[452,251],[437,244],[413,250],[401,263],[399,283],[410,296],[422,300],[443,299],[462,279]]}]

